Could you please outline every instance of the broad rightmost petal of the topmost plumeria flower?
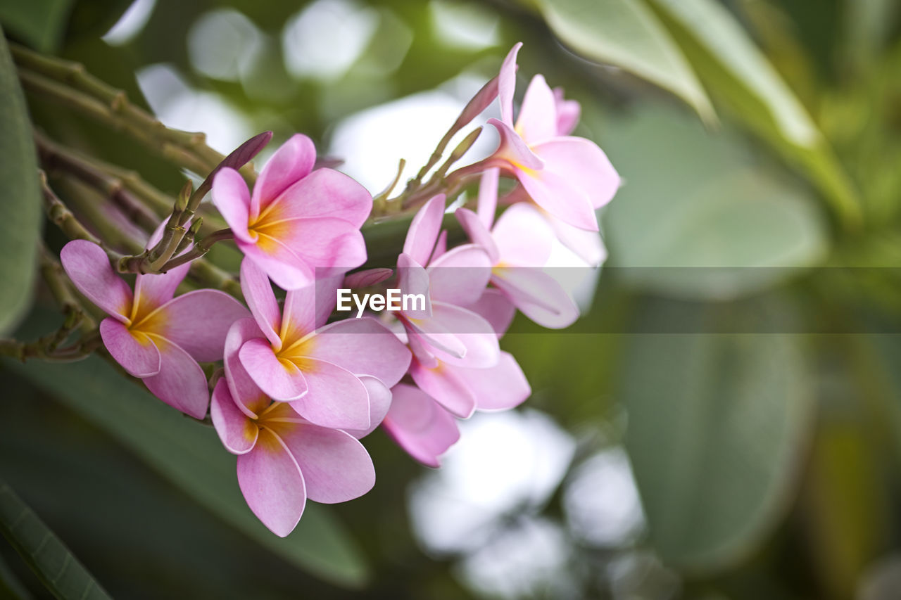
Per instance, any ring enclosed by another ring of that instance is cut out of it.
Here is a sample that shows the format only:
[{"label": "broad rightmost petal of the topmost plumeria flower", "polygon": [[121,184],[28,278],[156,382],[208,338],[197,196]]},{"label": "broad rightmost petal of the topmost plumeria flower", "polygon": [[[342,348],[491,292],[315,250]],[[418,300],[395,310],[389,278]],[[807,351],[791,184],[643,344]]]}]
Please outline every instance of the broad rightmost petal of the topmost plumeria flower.
[{"label": "broad rightmost petal of the topmost plumeria flower", "polygon": [[[598,148],[594,141],[574,137],[555,138],[534,145],[532,150],[544,161],[545,169],[585,193],[594,208],[610,202],[619,189],[619,174],[604,150]],[[578,223],[570,224],[580,226]]]}]

